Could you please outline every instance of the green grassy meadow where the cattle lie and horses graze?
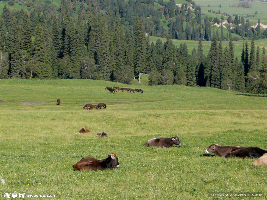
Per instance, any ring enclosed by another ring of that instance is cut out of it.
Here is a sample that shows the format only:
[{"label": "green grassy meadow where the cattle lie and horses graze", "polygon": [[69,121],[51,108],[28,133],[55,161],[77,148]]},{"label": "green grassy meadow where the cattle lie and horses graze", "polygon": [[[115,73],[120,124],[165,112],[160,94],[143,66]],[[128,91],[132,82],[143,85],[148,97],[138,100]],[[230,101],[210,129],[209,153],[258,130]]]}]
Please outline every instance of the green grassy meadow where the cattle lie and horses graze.
[{"label": "green grassy meadow where the cattle lie and horses graze", "polygon": [[[132,86],[95,80],[0,80],[0,199],[209,199],[209,192],[263,192],[267,167],[255,159],[205,153],[212,143],[267,149],[266,97],[182,85]],[[106,86],[140,88],[143,94]],[[56,105],[57,98],[61,105]],[[23,105],[20,102],[42,102]],[[84,110],[87,103],[105,110]],[[89,134],[75,134],[81,127]],[[108,138],[95,138],[105,131]],[[180,147],[143,144],[178,134]],[[120,167],[74,171],[83,157],[119,158]],[[38,198],[37,198],[38,199]],[[40,198],[41,199],[41,198]],[[240,198],[241,199],[241,198]],[[252,198],[246,198],[252,199]],[[257,198],[264,199],[264,198]]]}]

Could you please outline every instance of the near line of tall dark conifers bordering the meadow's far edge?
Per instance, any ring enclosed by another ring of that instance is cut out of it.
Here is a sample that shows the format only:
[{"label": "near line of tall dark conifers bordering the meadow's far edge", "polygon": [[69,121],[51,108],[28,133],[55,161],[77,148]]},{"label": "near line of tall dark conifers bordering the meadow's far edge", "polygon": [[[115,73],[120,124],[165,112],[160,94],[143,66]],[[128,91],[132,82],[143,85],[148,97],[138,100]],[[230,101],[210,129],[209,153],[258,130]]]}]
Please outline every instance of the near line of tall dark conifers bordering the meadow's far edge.
[{"label": "near line of tall dark conifers bordering the meadow's far edge", "polygon": [[68,7],[62,7],[60,15],[49,20],[39,12],[11,13],[5,6],[0,30],[0,78],[84,78],[131,84],[133,77],[146,73],[150,85],[266,92],[265,49],[262,53],[259,46],[255,50],[254,38],[250,53],[244,42],[238,59],[231,36],[229,46],[223,49],[218,33],[211,35],[208,31],[207,38],[212,39],[206,57],[201,38],[191,53],[185,43],[175,47],[171,35],[164,43],[159,39],[150,43],[139,15],[133,29],[125,30],[119,13],[104,16],[94,7],[88,21],[83,22],[81,13],[73,17]]}]

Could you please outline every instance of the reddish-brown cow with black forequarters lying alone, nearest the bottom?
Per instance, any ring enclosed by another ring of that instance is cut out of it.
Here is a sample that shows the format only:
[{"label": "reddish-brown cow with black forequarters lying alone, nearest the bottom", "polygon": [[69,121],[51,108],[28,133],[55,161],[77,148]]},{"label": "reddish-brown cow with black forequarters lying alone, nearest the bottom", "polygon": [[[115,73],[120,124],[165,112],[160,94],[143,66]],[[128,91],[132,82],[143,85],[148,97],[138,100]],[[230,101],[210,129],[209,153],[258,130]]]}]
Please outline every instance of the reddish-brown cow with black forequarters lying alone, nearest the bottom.
[{"label": "reddish-brown cow with black forequarters lying alone, nearest the bottom", "polygon": [[95,158],[82,158],[72,167],[74,170],[105,170],[119,167],[120,163],[115,154],[108,154],[108,157],[103,160]]}]

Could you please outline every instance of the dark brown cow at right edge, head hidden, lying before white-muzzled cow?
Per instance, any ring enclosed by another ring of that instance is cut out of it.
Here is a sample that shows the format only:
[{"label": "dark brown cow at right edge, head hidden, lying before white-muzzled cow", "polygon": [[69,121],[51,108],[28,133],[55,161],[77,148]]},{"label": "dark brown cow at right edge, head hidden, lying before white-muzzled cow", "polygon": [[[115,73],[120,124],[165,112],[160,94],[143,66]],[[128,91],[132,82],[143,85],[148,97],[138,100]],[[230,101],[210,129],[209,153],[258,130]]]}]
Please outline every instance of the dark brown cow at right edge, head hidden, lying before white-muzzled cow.
[{"label": "dark brown cow at right edge, head hidden, lying before white-muzzled cow", "polygon": [[235,151],[231,151],[227,155],[225,155],[225,158],[229,157],[249,157],[249,158],[258,158],[261,157],[263,154],[267,153],[267,151],[260,149],[258,147],[244,147],[237,149]]}]

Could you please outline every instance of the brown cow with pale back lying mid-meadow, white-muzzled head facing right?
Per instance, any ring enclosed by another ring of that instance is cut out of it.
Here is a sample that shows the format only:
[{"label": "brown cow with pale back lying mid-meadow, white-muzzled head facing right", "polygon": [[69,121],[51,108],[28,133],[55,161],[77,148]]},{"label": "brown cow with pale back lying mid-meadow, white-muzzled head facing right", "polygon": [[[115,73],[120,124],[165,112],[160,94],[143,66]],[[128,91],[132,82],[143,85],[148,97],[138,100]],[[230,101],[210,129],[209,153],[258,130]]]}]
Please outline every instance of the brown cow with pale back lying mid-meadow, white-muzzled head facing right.
[{"label": "brown cow with pale back lying mid-meadow, white-muzzled head facing right", "polygon": [[181,146],[181,142],[178,135],[172,138],[153,138],[144,143],[144,146],[155,146],[155,147],[172,147],[172,145]]}]

